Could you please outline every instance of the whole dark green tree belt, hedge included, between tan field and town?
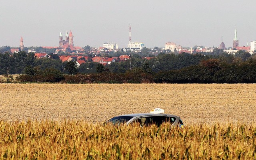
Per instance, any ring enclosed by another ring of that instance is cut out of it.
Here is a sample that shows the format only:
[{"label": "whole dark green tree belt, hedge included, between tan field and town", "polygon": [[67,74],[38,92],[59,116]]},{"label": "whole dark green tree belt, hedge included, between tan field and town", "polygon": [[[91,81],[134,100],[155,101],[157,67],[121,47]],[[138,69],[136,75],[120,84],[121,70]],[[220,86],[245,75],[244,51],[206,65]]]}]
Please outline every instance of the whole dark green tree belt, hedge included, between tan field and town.
[{"label": "whole dark green tree belt, hedge included, between tan field and town", "polygon": [[62,62],[57,55],[36,59],[34,53],[0,53],[0,74],[22,74],[16,82],[61,83],[255,83],[255,55],[160,53],[147,60],[133,54],[103,66]]}]

